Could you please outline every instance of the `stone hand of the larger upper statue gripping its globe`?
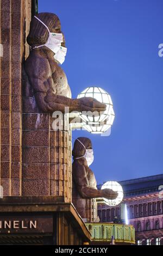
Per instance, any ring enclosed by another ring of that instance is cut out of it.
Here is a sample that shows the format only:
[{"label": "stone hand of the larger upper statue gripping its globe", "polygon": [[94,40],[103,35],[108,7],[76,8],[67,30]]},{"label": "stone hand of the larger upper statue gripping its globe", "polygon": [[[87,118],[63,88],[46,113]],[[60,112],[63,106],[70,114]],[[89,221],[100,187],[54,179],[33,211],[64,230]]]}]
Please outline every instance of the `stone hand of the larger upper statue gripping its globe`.
[{"label": "stone hand of the larger upper statue gripping its globe", "polygon": [[78,99],[78,104],[80,111],[103,112],[106,109],[105,104],[93,99],[92,97],[82,97]]}]

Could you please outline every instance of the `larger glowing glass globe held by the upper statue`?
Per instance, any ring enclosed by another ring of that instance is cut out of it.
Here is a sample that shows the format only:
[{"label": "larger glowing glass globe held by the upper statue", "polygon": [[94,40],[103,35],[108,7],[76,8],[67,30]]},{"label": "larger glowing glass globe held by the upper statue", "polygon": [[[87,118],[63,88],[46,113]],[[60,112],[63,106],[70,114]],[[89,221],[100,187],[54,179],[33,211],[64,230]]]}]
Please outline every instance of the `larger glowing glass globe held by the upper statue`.
[{"label": "larger glowing glass globe held by the upper statue", "polygon": [[93,97],[106,105],[106,110],[101,115],[89,116],[80,113],[79,117],[84,121],[83,127],[91,133],[103,133],[113,124],[115,113],[110,95],[100,87],[88,87],[78,95],[82,97]]}]

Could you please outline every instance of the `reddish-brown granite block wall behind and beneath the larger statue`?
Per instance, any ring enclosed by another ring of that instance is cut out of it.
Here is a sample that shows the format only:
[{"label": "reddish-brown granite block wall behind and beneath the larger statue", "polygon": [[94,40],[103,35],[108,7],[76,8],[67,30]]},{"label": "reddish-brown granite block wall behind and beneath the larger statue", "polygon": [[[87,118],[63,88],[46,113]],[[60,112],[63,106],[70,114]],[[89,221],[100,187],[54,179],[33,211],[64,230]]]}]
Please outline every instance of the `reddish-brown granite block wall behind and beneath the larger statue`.
[{"label": "reddish-brown granite block wall behind and beneath the larger statue", "polygon": [[29,55],[25,39],[31,0],[2,0],[0,10],[0,185],[4,196],[63,196],[65,202],[72,202],[71,131],[53,131],[52,113],[40,112],[32,92],[26,91],[22,64]]}]

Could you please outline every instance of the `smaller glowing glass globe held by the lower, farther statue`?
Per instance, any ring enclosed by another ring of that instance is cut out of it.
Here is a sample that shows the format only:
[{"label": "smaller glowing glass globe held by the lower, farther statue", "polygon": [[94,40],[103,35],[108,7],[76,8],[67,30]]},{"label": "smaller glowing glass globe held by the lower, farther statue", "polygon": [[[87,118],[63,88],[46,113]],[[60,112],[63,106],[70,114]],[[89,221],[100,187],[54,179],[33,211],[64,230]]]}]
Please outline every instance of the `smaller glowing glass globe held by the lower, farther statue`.
[{"label": "smaller glowing glass globe held by the lower, farther statue", "polygon": [[103,198],[105,201],[105,204],[109,206],[116,206],[122,202],[123,199],[123,189],[122,186],[117,182],[117,181],[107,181],[105,182],[101,189],[103,190],[104,188],[110,188],[110,190],[116,191],[118,193],[118,196],[116,199],[106,199]]}]

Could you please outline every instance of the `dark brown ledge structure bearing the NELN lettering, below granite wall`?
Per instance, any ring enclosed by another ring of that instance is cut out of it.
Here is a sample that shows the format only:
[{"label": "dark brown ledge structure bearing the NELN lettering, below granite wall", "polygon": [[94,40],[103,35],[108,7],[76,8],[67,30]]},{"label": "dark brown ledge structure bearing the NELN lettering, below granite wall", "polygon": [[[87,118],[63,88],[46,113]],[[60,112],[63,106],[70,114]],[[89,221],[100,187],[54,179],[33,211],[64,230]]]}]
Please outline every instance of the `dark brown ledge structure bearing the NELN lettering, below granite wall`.
[{"label": "dark brown ledge structure bearing the NELN lettering, below granite wall", "polygon": [[0,245],[83,245],[91,234],[70,203],[54,197],[5,197]]}]

